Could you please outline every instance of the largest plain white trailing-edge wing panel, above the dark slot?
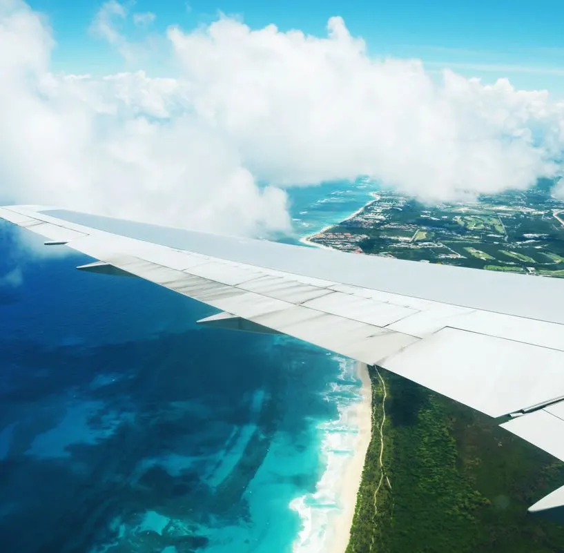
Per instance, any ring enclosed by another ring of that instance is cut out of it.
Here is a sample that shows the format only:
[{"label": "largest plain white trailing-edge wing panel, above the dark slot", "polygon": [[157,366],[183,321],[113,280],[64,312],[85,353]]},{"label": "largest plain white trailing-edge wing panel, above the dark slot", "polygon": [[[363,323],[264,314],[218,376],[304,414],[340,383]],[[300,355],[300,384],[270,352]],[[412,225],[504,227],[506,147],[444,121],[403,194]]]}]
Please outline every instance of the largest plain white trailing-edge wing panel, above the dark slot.
[{"label": "largest plain white trailing-edge wing panel, above the dark slot", "polygon": [[443,329],[382,367],[490,416],[564,396],[564,352]]}]

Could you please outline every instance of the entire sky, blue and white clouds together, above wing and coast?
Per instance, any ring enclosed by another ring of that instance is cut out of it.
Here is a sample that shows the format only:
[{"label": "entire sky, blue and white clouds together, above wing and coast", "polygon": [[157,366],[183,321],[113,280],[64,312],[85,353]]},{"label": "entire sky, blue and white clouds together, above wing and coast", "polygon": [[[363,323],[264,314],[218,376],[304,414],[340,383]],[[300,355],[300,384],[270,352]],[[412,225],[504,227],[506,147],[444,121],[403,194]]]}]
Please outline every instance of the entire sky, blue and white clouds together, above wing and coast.
[{"label": "entire sky, blue and white clouds together, above wing and coast", "polygon": [[22,1],[0,8],[17,203],[262,235],[289,228],[286,186],[368,175],[437,202],[564,174],[564,4]]}]

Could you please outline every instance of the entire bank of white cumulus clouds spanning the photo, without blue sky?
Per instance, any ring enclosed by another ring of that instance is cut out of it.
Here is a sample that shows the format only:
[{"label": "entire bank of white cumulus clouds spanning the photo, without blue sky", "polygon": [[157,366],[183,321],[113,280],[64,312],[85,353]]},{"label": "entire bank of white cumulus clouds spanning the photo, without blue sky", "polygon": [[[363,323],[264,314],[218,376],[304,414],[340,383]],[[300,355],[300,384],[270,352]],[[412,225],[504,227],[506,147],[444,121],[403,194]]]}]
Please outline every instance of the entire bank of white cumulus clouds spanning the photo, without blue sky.
[{"label": "entire bank of white cumulus clouds spanning the photo, without blue sky", "polygon": [[[127,57],[133,17],[111,0],[93,30]],[[327,37],[221,17],[165,39],[175,78],[55,75],[46,22],[0,0],[1,195],[256,235],[289,231],[289,185],[369,175],[436,201],[557,170],[564,106],[546,92],[436,83],[371,57],[338,17]]]}]

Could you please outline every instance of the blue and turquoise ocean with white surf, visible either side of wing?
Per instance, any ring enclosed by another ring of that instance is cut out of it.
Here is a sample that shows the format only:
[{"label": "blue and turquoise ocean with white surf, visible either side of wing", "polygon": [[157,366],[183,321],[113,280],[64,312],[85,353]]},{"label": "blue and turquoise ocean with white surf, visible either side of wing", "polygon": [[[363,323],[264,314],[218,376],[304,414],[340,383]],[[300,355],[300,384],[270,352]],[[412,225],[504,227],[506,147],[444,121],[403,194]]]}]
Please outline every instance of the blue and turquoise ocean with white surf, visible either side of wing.
[{"label": "blue and turquoise ocean with white surf, visible either side of wing", "polygon": [[[370,199],[362,182],[290,194],[291,240]],[[353,362],[200,329],[213,309],[74,271],[88,258],[34,255],[21,233],[0,226],[0,550],[322,551],[356,435]]]}]

